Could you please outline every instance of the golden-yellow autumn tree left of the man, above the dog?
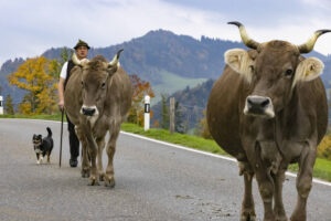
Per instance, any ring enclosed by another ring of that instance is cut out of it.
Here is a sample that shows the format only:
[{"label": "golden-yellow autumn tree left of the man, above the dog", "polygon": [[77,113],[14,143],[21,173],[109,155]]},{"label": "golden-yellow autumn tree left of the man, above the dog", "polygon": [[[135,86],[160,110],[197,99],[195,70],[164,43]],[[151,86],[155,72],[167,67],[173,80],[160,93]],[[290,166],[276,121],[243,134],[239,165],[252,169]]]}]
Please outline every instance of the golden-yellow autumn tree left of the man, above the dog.
[{"label": "golden-yellow autumn tree left of the man, above the dog", "polygon": [[8,75],[9,84],[28,93],[19,105],[22,114],[51,114],[56,110],[60,65],[44,56],[26,60],[17,72]]}]

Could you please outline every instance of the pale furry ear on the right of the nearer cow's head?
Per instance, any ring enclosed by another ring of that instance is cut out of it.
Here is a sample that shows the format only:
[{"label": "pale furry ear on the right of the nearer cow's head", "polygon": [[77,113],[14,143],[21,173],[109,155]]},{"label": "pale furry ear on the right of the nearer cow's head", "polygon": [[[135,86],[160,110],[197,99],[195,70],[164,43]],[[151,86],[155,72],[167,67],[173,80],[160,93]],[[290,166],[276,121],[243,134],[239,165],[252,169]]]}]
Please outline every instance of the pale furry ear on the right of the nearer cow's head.
[{"label": "pale furry ear on the right of the nearer cow's head", "polygon": [[297,66],[293,84],[298,81],[308,82],[317,78],[322,74],[323,69],[323,62],[317,57],[309,57],[302,60]]}]

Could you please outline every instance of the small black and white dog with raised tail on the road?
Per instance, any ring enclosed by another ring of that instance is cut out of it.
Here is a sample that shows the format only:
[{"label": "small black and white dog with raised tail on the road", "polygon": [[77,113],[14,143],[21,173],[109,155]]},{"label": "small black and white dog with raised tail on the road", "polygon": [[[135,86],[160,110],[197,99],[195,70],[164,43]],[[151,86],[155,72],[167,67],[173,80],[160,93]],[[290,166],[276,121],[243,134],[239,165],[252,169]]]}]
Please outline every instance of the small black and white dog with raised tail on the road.
[{"label": "small black and white dog with raised tail on the road", "polygon": [[32,143],[36,155],[36,164],[43,162],[43,158],[47,155],[47,162],[50,162],[50,156],[53,149],[52,130],[50,127],[46,128],[49,135],[42,137],[42,135],[33,135]]}]

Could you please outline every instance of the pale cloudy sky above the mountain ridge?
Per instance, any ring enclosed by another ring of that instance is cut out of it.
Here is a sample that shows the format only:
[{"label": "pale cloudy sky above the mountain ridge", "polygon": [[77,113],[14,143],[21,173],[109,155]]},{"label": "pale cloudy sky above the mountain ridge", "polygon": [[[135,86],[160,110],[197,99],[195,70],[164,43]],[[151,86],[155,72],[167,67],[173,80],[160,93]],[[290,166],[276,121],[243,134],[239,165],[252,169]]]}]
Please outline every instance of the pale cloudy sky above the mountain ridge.
[{"label": "pale cloudy sky above the mountain ridge", "polygon": [[[331,29],[330,0],[0,0],[0,65],[33,57],[50,48],[74,46],[83,39],[104,48],[164,29],[239,41],[241,21],[258,42],[306,42],[319,29]],[[314,48],[331,54],[331,33]]]}]

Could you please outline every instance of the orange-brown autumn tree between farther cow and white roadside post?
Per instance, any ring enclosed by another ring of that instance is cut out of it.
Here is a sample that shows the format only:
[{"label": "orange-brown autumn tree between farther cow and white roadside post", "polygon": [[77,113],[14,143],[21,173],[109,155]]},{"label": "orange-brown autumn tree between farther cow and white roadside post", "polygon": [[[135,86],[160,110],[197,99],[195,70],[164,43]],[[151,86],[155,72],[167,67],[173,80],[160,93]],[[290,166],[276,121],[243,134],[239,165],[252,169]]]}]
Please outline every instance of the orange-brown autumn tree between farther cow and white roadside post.
[{"label": "orange-brown autumn tree between farther cow and white roadside post", "polygon": [[[156,95],[149,82],[139,78],[137,75],[130,75],[130,80],[134,94],[132,105],[128,115],[128,122],[135,123],[139,126],[143,126],[145,96],[149,95],[152,98]],[[152,117],[152,112],[150,113],[150,117]]]}]

